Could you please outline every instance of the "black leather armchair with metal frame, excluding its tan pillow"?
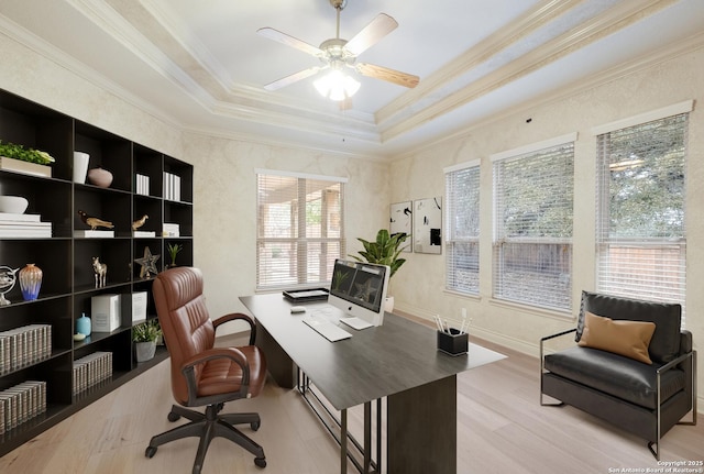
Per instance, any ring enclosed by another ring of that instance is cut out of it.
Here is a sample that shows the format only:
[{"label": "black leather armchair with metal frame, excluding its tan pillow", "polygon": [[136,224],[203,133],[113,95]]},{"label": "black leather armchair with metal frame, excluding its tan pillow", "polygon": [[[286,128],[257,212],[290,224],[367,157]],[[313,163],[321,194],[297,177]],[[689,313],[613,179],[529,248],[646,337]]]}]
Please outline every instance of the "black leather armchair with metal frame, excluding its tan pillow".
[{"label": "black leather armchair with metal frame, excluding its tan pillow", "polygon": [[[675,425],[696,425],[696,351],[680,329],[680,305],[582,291],[575,329],[540,340],[540,403],[543,395],[607,420],[648,440],[660,459],[660,439]],[[647,345],[650,364],[579,344],[586,315],[654,324]],[[579,345],[546,354],[551,339],[574,333]],[[683,418],[691,414],[691,421]]]}]

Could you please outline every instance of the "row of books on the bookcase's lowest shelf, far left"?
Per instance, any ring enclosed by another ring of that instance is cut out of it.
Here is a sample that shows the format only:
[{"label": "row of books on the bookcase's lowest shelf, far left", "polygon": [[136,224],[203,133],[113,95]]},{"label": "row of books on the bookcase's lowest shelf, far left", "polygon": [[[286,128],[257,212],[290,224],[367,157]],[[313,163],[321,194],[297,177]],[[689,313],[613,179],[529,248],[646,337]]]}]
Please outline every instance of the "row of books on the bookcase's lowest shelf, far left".
[{"label": "row of books on the bookcase's lowest shelf, far left", "polygon": [[0,433],[46,411],[46,382],[26,381],[0,392]]}]

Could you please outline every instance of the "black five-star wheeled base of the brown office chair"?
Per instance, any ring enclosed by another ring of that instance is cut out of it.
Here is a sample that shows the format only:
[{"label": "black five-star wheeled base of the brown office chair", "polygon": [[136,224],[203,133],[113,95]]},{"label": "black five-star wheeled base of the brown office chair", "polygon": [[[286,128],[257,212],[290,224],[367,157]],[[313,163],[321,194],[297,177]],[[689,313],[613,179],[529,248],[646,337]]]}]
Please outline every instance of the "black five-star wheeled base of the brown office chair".
[{"label": "black five-star wheeled base of the brown office chair", "polygon": [[179,405],[174,405],[172,407],[172,411],[168,414],[168,420],[176,421],[180,417],[184,417],[190,420],[190,422],[173,428],[162,434],[152,437],[144,455],[153,458],[160,445],[166,444],[170,441],[191,437],[200,438],[193,470],[194,474],[200,474],[210,442],[213,438],[221,437],[229,439],[254,454],[254,464],[258,467],[265,467],[266,458],[264,456],[264,449],[246,434],[233,427],[233,425],[250,423],[250,427],[256,431],[261,425],[260,416],[257,414],[218,415],[222,409],[222,404],[208,405],[206,407],[206,412],[201,414],[199,411],[189,410]]}]

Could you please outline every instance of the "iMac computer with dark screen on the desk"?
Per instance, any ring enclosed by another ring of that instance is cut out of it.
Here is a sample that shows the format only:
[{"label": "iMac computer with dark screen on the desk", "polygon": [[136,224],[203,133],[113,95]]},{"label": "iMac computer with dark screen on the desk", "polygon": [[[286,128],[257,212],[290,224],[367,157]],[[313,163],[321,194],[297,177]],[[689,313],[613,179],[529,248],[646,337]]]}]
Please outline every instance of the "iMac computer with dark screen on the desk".
[{"label": "iMac computer with dark screen on the desk", "polygon": [[338,258],[328,304],[342,310],[346,317],[382,326],[389,275],[391,268],[386,265]]}]

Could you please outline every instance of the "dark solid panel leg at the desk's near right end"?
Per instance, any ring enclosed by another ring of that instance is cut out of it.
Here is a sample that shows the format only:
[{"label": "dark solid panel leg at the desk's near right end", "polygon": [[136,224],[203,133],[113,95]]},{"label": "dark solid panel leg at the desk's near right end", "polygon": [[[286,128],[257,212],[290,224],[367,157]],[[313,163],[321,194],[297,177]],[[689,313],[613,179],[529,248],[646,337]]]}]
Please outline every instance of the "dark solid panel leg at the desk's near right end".
[{"label": "dark solid panel leg at the desk's near right end", "polygon": [[457,376],[387,399],[388,474],[457,474]]}]

